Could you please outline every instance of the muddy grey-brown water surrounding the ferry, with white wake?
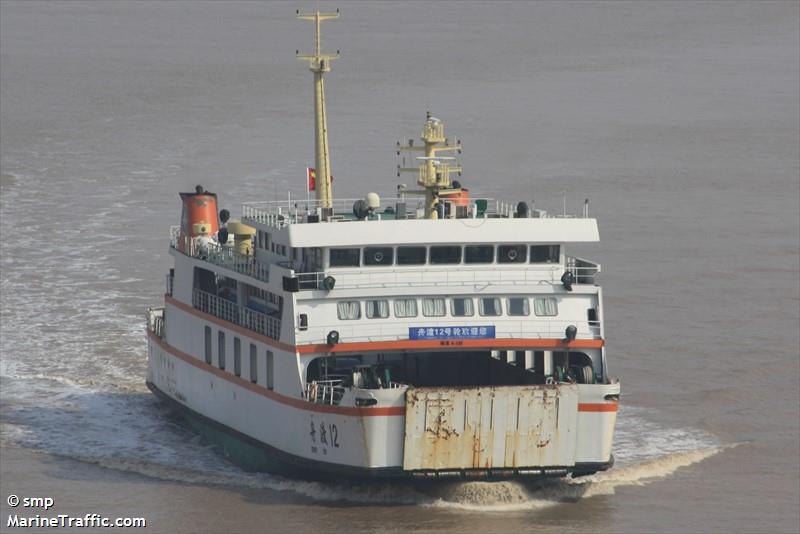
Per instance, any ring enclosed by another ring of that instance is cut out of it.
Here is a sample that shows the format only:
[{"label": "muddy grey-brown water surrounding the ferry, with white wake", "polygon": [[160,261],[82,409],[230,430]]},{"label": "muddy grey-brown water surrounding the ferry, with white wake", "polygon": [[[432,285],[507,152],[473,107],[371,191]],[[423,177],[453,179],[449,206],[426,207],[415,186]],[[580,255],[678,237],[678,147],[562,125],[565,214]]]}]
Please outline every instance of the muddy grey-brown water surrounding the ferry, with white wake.
[{"label": "muddy grey-brown water surrounding the ferry, with white wake", "polygon": [[473,195],[589,199],[611,471],[300,482],[164,410],[144,311],[177,193],[305,197],[315,6],[0,3],[0,529],[16,493],[150,532],[800,531],[798,2],[321,4],[337,196],[391,195],[430,110]]}]

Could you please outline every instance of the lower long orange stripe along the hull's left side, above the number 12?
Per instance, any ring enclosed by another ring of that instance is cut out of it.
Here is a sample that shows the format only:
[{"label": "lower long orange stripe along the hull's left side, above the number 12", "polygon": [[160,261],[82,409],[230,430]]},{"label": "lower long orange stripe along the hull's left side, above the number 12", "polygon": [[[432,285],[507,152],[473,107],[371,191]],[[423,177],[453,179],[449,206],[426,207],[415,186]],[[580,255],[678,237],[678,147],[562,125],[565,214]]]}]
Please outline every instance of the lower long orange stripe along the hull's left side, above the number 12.
[{"label": "lower long orange stripe along the hull's left side, above the number 12", "polygon": [[168,344],[166,341],[156,336],[153,332],[149,330],[147,331],[147,335],[164,351],[170,353],[171,355],[175,356],[180,360],[185,361],[189,365],[193,365],[194,367],[197,367],[202,371],[211,373],[214,376],[221,378],[222,380],[227,380],[232,384],[236,384],[237,386],[243,387],[249,391],[252,391],[253,393],[261,395],[262,397],[267,397],[268,399],[274,400],[281,404],[292,406],[294,408],[298,408],[300,410],[306,410],[309,412],[336,413],[340,415],[354,415],[358,417],[405,415],[406,413],[406,409],[404,406],[393,406],[385,408],[356,408],[356,407],[326,406],[323,404],[314,404],[302,399],[296,399],[294,397],[287,397],[286,395],[281,395],[280,393],[276,393],[272,390],[266,389],[263,386],[253,384],[249,380],[244,380],[242,378],[239,378],[238,376],[234,376],[230,373],[227,373],[222,369],[217,369],[216,367],[209,365],[202,360],[199,360],[189,354],[186,354],[185,352],[182,352],[173,347],[172,345]]}]

